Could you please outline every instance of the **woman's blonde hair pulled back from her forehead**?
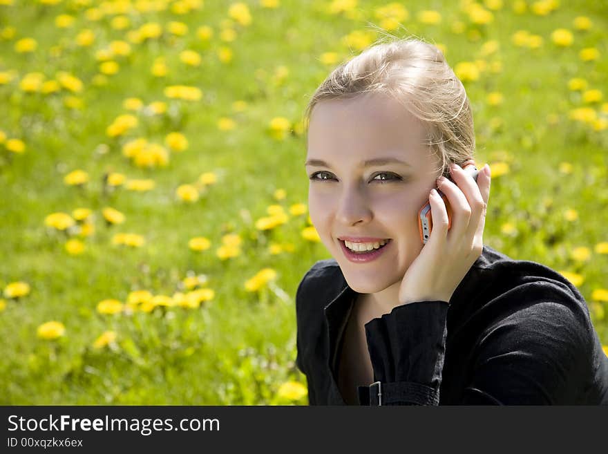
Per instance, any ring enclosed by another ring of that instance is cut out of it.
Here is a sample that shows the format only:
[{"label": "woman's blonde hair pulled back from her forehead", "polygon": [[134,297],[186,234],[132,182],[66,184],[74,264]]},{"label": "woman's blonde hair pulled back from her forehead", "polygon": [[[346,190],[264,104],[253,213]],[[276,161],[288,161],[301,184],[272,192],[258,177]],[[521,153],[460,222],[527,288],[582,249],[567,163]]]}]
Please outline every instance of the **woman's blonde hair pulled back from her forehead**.
[{"label": "woman's blonde hair pulled back from her forehead", "polygon": [[462,82],[437,47],[419,39],[395,39],[373,44],[344,62],[316,89],[304,113],[308,129],[314,106],[323,100],[384,93],[400,102],[426,125],[428,146],[441,162],[473,160],[473,113]]}]

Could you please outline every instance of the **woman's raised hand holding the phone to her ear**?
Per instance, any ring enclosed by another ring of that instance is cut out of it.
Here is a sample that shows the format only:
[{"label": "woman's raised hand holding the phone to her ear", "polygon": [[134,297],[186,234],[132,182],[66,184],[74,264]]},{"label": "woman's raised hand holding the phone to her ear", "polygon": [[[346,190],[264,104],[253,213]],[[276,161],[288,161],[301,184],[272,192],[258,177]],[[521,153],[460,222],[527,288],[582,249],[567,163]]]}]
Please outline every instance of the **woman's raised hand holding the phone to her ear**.
[{"label": "woman's raised hand holding the phone to her ear", "polygon": [[426,245],[403,276],[399,287],[400,304],[450,301],[462,278],[482,254],[490,167],[486,164],[479,171],[477,183],[457,164],[452,164],[450,174],[456,184],[444,177],[437,179],[437,187],[448,198],[452,210],[450,229],[446,205],[433,189],[428,198],[433,229]]}]

